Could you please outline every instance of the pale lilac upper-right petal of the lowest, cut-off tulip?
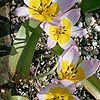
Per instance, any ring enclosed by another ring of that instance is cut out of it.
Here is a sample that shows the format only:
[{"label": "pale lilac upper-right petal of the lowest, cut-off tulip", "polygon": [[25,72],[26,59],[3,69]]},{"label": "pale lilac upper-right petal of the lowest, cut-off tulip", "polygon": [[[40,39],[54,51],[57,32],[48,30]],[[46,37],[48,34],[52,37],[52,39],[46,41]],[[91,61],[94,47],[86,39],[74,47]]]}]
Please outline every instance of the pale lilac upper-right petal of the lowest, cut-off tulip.
[{"label": "pale lilac upper-right petal of the lowest, cut-off tulip", "polygon": [[60,80],[59,81],[63,86],[67,87],[71,93],[76,91],[75,84],[70,80]]}]

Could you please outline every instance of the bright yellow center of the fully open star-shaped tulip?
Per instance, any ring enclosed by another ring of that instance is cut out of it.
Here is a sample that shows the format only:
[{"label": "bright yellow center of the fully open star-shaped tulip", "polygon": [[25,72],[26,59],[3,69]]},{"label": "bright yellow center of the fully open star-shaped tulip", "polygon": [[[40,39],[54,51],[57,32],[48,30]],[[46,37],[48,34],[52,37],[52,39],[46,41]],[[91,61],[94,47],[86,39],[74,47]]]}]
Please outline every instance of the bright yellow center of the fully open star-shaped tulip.
[{"label": "bright yellow center of the fully open star-shaped tulip", "polygon": [[58,41],[60,44],[65,44],[70,41],[71,35],[71,22],[66,18],[62,18],[63,27],[59,28],[56,26],[50,25],[49,34],[54,41]]}]

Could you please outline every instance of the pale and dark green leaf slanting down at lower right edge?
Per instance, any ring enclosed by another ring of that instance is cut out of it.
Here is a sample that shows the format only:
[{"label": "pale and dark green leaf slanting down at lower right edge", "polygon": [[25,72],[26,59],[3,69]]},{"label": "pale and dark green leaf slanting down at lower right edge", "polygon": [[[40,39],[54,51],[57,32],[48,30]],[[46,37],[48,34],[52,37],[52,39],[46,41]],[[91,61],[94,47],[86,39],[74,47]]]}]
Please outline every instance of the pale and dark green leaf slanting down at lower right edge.
[{"label": "pale and dark green leaf slanting down at lower right edge", "polygon": [[100,100],[100,79],[96,74],[82,81],[82,84],[96,98],[96,100]]}]

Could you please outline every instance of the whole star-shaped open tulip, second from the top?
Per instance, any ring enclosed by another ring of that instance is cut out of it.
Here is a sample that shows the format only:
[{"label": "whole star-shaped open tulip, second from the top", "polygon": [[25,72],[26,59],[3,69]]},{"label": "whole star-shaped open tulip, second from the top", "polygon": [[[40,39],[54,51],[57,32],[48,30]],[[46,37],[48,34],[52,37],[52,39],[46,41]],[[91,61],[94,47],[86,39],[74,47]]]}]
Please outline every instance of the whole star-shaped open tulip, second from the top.
[{"label": "whole star-shaped open tulip, second from the top", "polygon": [[72,9],[59,16],[61,26],[54,26],[49,23],[42,23],[41,28],[48,34],[47,47],[53,48],[57,43],[63,48],[68,49],[72,45],[76,45],[73,37],[83,36],[87,33],[86,29],[75,26],[80,18],[80,10]]}]

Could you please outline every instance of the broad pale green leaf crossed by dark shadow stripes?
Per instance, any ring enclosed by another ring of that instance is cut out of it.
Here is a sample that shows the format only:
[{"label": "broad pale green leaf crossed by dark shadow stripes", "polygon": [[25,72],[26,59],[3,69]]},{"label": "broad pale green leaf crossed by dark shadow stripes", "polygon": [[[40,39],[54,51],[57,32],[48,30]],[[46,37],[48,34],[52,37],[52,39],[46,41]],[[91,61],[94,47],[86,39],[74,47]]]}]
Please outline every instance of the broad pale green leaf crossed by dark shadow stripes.
[{"label": "broad pale green leaf crossed by dark shadow stripes", "polygon": [[27,20],[19,29],[10,53],[9,66],[12,71],[16,70],[17,63],[32,32],[28,32],[29,21]]}]

